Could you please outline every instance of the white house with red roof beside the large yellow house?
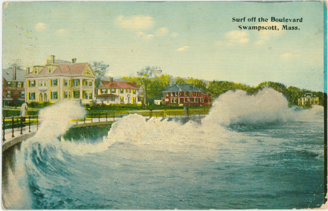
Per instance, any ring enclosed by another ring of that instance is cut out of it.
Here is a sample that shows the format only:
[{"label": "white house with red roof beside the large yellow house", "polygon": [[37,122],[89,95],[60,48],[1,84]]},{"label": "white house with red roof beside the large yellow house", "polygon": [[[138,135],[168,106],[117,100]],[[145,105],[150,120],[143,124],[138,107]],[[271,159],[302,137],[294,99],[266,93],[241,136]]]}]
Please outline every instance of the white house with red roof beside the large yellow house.
[{"label": "white house with red roof beside the large yellow house", "polygon": [[101,81],[96,89],[97,104],[142,104],[143,86],[122,81]]}]

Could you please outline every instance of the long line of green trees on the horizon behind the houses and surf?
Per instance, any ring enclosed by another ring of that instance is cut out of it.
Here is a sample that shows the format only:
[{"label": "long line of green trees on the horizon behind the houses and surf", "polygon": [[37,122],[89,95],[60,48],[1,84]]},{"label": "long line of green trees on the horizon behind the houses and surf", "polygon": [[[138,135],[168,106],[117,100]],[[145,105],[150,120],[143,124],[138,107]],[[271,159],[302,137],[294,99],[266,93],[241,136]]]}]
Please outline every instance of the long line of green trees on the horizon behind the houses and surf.
[{"label": "long line of green trees on the horizon behind the houses and surf", "polygon": [[249,86],[241,83],[234,83],[228,81],[205,81],[194,78],[180,78],[172,77],[168,74],[153,74],[151,70],[156,67],[146,67],[142,71],[138,72],[136,77],[121,77],[121,81],[136,83],[144,85],[146,91],[146,104],[152,104],[154,100],[159,100],[163,97],[162,91],[172,84],[194,84],[196,87],[202,89],[204,92],[212,94],[212,99],[217,98],[221,94],[228,90],[244,90],[248,94],[255,94],[259,90],[265,87],[270,87],[280,93],[282,93],[288,100],[290,106],[298,104],[298,98],[302,97],[305,93],[312,93],[319,97],[319,105],[324,105],[323,92],[311,91],[308,89],[300,89],[295,86],[286,87],[284,84],[277,82],[262,82],[257,86]]}]

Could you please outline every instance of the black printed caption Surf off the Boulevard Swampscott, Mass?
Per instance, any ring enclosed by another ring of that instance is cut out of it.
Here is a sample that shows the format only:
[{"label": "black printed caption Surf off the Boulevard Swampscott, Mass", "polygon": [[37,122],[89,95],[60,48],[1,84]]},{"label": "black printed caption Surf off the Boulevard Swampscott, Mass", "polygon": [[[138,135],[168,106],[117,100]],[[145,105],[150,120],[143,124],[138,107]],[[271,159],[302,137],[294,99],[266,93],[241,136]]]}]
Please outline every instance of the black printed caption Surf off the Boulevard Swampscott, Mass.
[{"label": "black printed caption Surf off the Boulevard Swampscott, Mass", "polygon": [[[236,18],[233,17],[232,18],[232,22],[268,22],[269,19],[268,18],[256,18],[256,17],[250,17],[247,18],[246,17],[242,17],[242,18]],[[276,18],[276,17],[271,17],[271,22],[284,22],[284,23],[288,23],[288,22],[293,22],[293,23],[302,23],[303,22],[303,18]],[[243,25],[239,25],[238,28],[241,29],[245,29],[245,30],[279,30],[279,28],[277,27],[277,25],[272,25],[272,26],[243,26]],[[299,30],[300,28],[298,26],[288,26],[288,25],[282,25],[281,26],[281,30]]]}]

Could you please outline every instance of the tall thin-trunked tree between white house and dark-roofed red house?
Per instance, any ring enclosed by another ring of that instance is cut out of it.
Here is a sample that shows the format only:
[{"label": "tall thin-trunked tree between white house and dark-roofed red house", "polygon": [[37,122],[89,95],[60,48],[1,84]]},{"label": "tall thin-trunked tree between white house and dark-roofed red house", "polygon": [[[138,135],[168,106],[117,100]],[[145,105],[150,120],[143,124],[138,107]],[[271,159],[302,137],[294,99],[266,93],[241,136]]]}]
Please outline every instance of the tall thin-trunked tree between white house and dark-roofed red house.
[{"label": "tall thin-trunked tree between white house and dark-roofed red house", "polygon": [[146,96],[150,91],[149,84],[151,83],[151,77],[157,77],[162,73],[159,67],[145,67],[137,72],[137,75],[141,78],[141,84],[144,85],[144,104],[146,105]]}]

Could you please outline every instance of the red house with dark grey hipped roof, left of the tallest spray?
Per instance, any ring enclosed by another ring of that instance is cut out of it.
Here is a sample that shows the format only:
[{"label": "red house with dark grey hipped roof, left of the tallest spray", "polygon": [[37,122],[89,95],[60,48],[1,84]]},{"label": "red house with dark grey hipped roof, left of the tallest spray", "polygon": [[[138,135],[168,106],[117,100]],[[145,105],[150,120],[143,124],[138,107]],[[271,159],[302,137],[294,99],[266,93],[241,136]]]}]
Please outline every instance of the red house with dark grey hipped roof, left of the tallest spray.
[{"label": "red house with dark grey hipped roof, left of the tallest spray", "polygon": [[166,105],[209,105],[212,102],[210,93],[204,93],[193,84],[174,84],[163,92],[163,104]]}]

